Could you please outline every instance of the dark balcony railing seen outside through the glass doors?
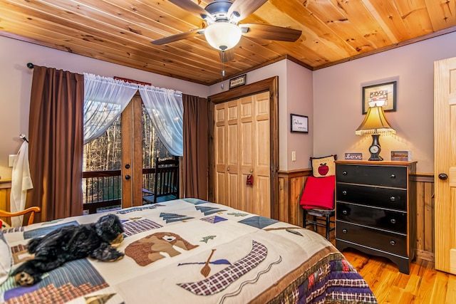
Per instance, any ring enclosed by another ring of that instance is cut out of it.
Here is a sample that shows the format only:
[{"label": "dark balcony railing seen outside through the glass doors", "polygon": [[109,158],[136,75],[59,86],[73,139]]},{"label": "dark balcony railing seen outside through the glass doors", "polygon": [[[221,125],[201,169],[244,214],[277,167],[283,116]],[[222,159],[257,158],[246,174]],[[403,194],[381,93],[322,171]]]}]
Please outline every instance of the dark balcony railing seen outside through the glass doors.
[{"label": "dark balcony railing seen outside through the glass doors", "polygon": [[[160,187],[167,187],[176,179],[179,167],[142,168],[142,189],[149,193],[162,192]],[[121,170],[105,170],[83,172],[83,209],[89,214],[105,209],[122,206],[122,172]],[[157,181],[157,189],[154,182]],[[143,194],[147,194],[143,191]],[[177,193],[176,193],[177,194]],[[175,196],[177,197],[177,195]]]}]

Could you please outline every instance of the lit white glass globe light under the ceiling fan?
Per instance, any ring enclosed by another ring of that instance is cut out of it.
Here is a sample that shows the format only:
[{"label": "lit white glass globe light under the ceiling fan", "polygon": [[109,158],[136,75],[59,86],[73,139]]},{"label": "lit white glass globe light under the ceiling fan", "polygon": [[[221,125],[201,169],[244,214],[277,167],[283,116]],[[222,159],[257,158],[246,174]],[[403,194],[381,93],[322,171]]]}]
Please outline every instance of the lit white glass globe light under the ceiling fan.
[{"label": "lit white glass globe light under the ceiling fan", "polygon": [[234,48],[241,40],[242,31],[239,26],[229,22],[212,23],[204,29],[204,36],[212,48],[227,51]]}]

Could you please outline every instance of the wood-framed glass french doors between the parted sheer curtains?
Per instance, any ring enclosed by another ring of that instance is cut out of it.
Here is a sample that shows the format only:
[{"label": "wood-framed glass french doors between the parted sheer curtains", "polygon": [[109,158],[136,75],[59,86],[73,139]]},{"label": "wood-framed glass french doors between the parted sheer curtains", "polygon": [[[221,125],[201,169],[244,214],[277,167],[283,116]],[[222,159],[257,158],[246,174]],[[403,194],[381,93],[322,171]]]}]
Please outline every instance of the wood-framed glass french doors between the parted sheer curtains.
[{"label": "wood-framed glass french doors between the parted sheer curtains", "polygon": [[154,167],[155,157],[172,155],[158,139],[137,94],[104,135],[84,146],[86,212],[142,205],[142,189],[148,189],[142,168]]}]

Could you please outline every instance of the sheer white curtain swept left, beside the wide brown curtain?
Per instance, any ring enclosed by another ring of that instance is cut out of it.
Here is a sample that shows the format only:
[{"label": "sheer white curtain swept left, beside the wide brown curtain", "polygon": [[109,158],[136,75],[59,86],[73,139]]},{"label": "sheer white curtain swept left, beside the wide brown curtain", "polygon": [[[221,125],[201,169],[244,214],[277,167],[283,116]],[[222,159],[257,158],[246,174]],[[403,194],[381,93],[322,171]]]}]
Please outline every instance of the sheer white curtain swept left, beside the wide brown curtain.
[{"label": "sheer white curtain swept left, beside the wide brown curtain", "polygon": [[84,145],[108,129],[137,90],[134,83],[84,73]]}]

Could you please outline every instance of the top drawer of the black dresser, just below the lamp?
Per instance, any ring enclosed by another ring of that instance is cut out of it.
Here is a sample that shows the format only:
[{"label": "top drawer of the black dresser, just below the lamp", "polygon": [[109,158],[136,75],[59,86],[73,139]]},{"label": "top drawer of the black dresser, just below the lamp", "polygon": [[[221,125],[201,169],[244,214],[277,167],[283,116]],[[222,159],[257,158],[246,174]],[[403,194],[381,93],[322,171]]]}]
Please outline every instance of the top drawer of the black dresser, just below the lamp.
[{"label": "top drawer of the black dresser, just below the lamp", "polygon": [[338,182],[407,188],[407,167],[336,164]]}]

